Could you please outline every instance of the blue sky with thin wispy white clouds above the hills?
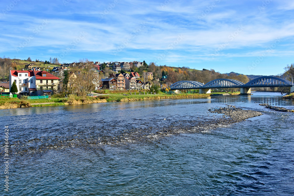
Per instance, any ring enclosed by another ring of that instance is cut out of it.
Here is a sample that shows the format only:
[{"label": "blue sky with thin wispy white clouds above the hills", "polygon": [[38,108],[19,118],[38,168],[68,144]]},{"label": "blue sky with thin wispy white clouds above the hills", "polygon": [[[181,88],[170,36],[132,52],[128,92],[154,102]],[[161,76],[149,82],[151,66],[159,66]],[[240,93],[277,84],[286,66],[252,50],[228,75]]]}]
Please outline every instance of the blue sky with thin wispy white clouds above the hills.
[{"label": "blue sky with thin wispy white clouds above the hills", "polygon": [[294,63],[294,1],[2,0],[0,56],[276,75]]}]

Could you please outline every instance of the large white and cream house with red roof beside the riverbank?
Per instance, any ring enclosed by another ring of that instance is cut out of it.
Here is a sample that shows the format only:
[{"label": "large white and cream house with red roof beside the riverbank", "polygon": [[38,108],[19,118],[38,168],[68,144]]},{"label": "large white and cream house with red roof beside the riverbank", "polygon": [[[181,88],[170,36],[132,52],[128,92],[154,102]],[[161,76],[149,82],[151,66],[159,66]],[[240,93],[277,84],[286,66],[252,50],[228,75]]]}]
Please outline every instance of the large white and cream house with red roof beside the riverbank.
[{"label": "large white and cream house with red roof beside the riverbank", "polygon": [[15,82],[18,94],[36,95],[38,90],[57,90],[60,78],[47,71],[20,71],[10,70],[9,88]]}]

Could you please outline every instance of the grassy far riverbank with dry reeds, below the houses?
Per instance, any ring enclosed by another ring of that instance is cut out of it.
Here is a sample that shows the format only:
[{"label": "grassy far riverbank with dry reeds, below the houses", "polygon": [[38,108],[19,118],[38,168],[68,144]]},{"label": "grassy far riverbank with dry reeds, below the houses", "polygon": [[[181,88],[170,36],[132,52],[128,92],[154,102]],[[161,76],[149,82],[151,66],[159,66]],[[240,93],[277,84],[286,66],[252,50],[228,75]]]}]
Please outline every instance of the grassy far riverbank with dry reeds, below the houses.
[{"label": "grassy far riverbank with dry reeds, below the houses", "polygon": [[[235,94],[235,93],[229,93]],[[9,108],[29,108],[29,107],[44,107],[53,105],[76,105],[86,103],[105,103],[105,102],[123,102],[123,101],[138,101],[138,100],[155,100],[155,99],[181,99],[181,98],[197,98],[208,97],[211,94],[156,94],[156,95],[122,95],[122,94],[106,94],[97,97],[77,97],[70,95],[69,98],[52,98],[49,99],[33,99],[20,100],[18,98],[1,98],[0,109]]]}]

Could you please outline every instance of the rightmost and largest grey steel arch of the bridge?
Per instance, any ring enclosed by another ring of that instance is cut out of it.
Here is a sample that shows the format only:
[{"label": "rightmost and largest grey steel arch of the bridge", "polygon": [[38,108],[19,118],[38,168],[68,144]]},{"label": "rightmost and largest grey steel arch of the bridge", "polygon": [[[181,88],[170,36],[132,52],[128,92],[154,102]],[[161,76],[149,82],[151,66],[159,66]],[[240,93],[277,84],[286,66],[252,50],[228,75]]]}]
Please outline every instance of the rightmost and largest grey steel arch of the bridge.
[{"label": "rightmost and largest grey steel arch of the bridge", "polygon": [[277,78],[273,76],[262,76],[259,78],[255,78],[248,83],[246,86],[260,86],[260,85],[268,85],[268,86],[275,86],[275,85],[292,85],[292,82],[285,80],[283,78]]}]

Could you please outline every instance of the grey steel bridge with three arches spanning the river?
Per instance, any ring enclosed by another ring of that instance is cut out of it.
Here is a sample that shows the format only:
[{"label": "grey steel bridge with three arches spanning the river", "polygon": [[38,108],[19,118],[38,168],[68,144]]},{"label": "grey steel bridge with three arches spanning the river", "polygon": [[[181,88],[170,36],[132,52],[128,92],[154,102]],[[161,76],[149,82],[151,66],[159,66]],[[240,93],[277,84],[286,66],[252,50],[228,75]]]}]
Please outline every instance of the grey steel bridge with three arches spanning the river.
[{"label": "grey steel bridge with three arches spanning the river", "polygon": [[[211,88],[254,88],[254,87],[291,87],[294,89],[294,84],[283,78],[273,76],[262,76],[255,78],[244,84],[238,80],[220,78],[212,80],[206,84],[197,81],[178,81],[173,83],[171,90],[185,90],[185,89],[211,89]],[[294,91],[294,90],[293,90]]]}]

